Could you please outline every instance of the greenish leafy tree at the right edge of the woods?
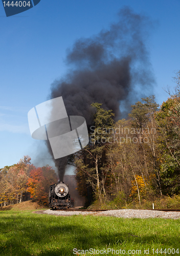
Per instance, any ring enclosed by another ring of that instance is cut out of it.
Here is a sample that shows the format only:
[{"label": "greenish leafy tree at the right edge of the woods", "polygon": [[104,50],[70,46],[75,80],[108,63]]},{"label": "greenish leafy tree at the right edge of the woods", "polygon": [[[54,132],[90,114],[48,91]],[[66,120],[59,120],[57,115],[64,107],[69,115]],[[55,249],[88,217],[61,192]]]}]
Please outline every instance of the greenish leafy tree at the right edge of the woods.
[{"label": "greenish leafy tree at the right edge of the woods", "polygon": [[164,194],[179,193],[180,183],[180,97],[172,96],[163,102],[156,113],[159,124],[161,179]]}]

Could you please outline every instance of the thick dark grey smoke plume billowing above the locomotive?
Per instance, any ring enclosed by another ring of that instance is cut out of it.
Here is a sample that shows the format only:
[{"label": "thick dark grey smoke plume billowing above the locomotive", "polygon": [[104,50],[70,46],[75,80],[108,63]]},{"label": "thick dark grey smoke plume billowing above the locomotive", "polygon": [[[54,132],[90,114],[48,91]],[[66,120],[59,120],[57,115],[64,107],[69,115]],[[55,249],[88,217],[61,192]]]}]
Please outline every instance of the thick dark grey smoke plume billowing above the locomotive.
[{"label": "thick dark grey smoke plume billowing above the locomotive", "polygon": [[[79,115],[92,124],[93,102],[113,110],[116,119],[122,117],[121,104],[129,110],[132,99],[152,88],[148,53],[145,47],[151,22],[147,17],[125,7],[119,21],[108,30],[91,38],[75,41],[66,56],[71,68],[61,80],[52,84],[51,98],[62,96],[68,115]],[[144,96],[144,95],[143,95]],[[63,177],[66,160],[56,161]]]}]

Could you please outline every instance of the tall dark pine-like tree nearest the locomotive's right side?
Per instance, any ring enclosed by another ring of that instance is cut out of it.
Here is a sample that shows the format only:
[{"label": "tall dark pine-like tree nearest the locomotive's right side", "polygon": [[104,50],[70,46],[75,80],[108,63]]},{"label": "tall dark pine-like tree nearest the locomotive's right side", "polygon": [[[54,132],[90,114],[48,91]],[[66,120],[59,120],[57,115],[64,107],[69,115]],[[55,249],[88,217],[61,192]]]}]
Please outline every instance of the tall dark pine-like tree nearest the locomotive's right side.
[{"label": "tall dark pine-like tree nearest the locomotive's right side", "polygon": [[76,156],[75,162],[78,190],[82,191],[79,177],[84,176],[86,183],[91,186],[95,198],[100,199],[100,201],[102,198],[105,200],[106,197],[105,183],[108,173],[106,152],[109,134],[114,123],[112,111],[104,110],[101,105],[101,103],[92,104],[96,113],[94,115],[94,126],[91,126],[90,142]]}]

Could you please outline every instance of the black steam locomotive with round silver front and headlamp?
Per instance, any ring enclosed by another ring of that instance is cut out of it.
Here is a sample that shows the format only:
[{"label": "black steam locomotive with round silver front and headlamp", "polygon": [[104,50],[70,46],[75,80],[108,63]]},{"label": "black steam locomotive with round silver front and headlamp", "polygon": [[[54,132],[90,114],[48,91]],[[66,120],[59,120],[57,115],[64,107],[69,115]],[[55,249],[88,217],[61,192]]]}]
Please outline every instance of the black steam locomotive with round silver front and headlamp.
[{"label": "black steam locomotive with round silver front and headlamp", "polygon": [[60,181],[58,184],[53,184],[49,188],[49,206],[53,209],[73,207],[73,200],[69,195],[68,185]]}]

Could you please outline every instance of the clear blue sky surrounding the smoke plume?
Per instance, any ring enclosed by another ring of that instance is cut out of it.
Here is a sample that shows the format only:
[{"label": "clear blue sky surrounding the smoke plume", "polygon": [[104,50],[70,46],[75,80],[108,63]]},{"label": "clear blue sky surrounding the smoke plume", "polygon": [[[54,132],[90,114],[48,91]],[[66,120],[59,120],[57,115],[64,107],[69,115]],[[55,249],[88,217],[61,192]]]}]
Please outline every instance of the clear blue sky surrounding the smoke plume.
[{"label": "clear blue sky surrounding the smoke plume", "polygon": [[43,142],[31,138],[27,113],[47,100],[51,83],[68,71],[66,49],[78,38],[108,29],[123,6],[154,22],[146,46],[161,104],[168,98],[162,88],[175,86],[172,77],[180,69],[179,0],[41,0],[11,17],[0,5],[0,168],[24,155],[37,166],[53,164]]}]

